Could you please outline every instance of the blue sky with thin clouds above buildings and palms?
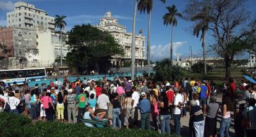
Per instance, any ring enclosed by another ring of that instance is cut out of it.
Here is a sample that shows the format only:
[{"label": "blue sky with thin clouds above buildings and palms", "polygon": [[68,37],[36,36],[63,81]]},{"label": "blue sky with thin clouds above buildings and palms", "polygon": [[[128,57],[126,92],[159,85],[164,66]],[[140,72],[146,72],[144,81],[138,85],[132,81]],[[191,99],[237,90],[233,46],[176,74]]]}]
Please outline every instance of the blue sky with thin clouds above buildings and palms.
[{"label": "blue sky with thin clouds above buildings and palms", "polygon": [[[183,12],[186,2],[189,0],[166,0],[166,4],[158,0],[153,0],[153,10],[151,18],[151,59],[160,60],[169,57],[171,27],[163,25],[163,15],[168,12],[166,6],[176,5],[178,12]],[[16,0],[0,0],[0,26],[6,26],[6,13],[14,9]],[[96,25],[100,18],[104,17],[106,11],[112,12],[121,25],[126,26],[127,31],[132,31],[132,19],[134,14],[134,0],[25,0],[34,4],[36,8],[46,10],[48,15],[66,15],[67,30],[74,25],[90,23]],[[246,6],[252,15],[256,13],[256,1],[248,0]],[[189,46],[192,47],[194,57],[202,57],[202,42],[189,31],[192,22],[177,19],[177,27],[174,28],[173,36],[173,59],[190,57]],[[143,30],[143,35],[147,38],[148,15],[140,14],[137,11],[136,33]],[[210,36],[209,36],[210,37]],[[207,39],[207,45],[212,43],[212,39]],[[212,56],[212,55],[208,55]],[[247,56],[243,56],[247,58]]]}]

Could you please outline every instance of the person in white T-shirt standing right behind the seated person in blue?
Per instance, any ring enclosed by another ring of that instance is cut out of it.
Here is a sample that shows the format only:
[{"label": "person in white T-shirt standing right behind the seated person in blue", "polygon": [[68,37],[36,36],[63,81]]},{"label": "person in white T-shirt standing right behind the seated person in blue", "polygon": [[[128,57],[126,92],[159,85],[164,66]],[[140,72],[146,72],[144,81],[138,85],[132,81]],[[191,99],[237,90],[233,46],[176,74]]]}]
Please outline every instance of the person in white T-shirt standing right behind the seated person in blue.
[{"label": "person in white T-shirt standing right behind the seated person in blue", "polygon": [[110,103],[108,96],[106,95],[106,90],[103,89],[102,90],[102,94],[100,94],[100,96],[98,96],[97,99],[97,106],[99,108],[99,113],[100,112],[106,112],[105,116],[106,118],[108,118],[108,105]]}]

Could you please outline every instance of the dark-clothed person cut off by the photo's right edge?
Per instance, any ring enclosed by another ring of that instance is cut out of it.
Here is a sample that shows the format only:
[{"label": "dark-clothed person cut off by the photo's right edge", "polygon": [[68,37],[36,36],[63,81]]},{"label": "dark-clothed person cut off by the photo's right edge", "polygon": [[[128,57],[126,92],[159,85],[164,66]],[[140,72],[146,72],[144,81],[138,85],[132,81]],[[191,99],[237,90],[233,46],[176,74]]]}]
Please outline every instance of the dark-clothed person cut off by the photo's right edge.
[{"label": "dark-clothed person cut off by the photo's right edge", "polygon": [[[248,101],[249,107],[244,109],[242,112],[242,115],[244,117],[249,118],[250,120],[250,130],[256,130],[256,106],[255,106],[256,100],[254,98],[250,98]],[[254,135],[255,136],[255,135]]]}]

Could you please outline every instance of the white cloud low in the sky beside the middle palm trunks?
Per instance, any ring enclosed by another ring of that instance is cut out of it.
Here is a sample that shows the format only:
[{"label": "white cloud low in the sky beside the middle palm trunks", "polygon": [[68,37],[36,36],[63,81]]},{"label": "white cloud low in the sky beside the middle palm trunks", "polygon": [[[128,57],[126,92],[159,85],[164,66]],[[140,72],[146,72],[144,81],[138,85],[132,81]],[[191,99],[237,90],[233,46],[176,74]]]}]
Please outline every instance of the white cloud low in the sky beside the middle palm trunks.
[{"label": "white cloud low in the sky beside the middle palm trunks", "polygon": [[[175,42],[173,43],[173,59],[176,59],[177,54],[180,56],[181,53],[177,52],[177,49],[179,49],[181,46],[184,46],[187,41],[182,42]],[[166,57],[170,56],[170,46],[171,43],[165,44],[165,45],[158,45],[158,46],[151,46],[151,58],[152,60],[160,60],[164,59]]]}]

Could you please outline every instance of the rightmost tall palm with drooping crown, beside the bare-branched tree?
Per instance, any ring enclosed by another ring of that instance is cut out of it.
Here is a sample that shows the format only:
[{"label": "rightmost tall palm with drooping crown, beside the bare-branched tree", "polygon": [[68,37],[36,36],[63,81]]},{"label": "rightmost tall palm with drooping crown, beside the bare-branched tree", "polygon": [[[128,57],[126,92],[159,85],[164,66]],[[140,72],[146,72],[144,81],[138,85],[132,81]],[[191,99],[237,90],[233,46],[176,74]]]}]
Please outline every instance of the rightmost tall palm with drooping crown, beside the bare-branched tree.
[{"label": "rightmost tall palm with drooping crown, beside the bare-branched tree", "polygon": [[208,25],[210,20],[212,20],[213,17],[208,15],[208,10],[206,7],[203,7],[202,12],[198,13],[194,17],[192,17],[192,21],[198,21],[197,24],[194,27],[193,34],[195,36],[199,36],[201,31],[200,40],[202,39],[202,48],[203,48],[203,74],[207,75],[207,64],[205,60],[205,36],[208,30]]}]

